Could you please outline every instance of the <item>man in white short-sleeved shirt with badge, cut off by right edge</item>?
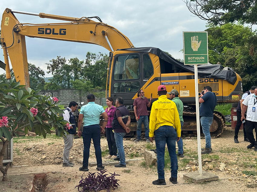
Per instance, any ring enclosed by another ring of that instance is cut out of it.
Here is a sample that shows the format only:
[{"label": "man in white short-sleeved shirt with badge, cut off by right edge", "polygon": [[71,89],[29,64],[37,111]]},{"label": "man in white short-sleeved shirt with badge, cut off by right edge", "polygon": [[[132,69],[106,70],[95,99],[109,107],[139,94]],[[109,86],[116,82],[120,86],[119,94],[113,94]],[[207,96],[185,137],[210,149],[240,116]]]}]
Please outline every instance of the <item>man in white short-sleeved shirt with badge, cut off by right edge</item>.
[{"label": "man in white short-sleeved shirt with badge, cut off by right edge", "polygon": [[253,94],[249,94],[245,100],[242,102],[244,104],[242,109],[241,120],[245,119],[246,112],[246,134],[250,141],[250,145],[247,146],[248,149],[254,147],[254,151],[257,151],[257,140],[254,139],[253,129],[255,129],[255,137],[257,138],[257,88],[254,90]]}]

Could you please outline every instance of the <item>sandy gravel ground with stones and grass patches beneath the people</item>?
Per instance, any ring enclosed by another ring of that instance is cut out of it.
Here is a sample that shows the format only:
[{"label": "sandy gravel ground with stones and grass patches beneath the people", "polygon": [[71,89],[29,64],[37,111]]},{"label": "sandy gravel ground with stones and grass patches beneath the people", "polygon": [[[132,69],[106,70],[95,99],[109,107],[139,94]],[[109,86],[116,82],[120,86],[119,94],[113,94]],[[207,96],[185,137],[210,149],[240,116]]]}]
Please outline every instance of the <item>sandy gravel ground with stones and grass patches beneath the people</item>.
[{"label": "sandy gravel ground with stones and grass patches beneath the people", "polygon": [[[115,168],[113,165],[106,166],[107,172],[120,174],[120,187],[117,191],[256,191],[257,189],[257,152],[246,149],[249,144],[243,142],[242,130],[239,132],[239,144],[234,143],[234,131],[227,127],[221,137],[212,139],[213,153],[203,155],[203,170],[219,176],[218,181],[192,183],[183,179],[183,174],[191,172],[197,163],[197,139],[184,139],[185,157],[178,158],[178,184],[169,182],[170,170],[165,170],[167,187],[157,187],[151,182],[158,178],[157,168],[142,166],[143,161],[129,162],[126,169]],[[202,147],[205,140],[201,139]],[[155,143],[154,143],[155,144]],[[142,158],[146,149],[146,142],[132,142],[130,139],[124,141],[126,158]],[[106,138],[101,139],[102,151],[107,149]],[[13,167],[8,169],[7,182],[0,181],[0,191],[29,191],[32,178],[36,173],[47,173],[48,185],[45,191],[77,191],[74,187],[79,184],[83,172],[79,171],[83,159],[82,139],[74,139],[73,148],[70,151],[71,161],[75,163],[72,168],[63,168],[62,163],[63,139],[47,137],[47,139],[25,138],[15,140]],[[107,155],[107,154],[104,154]],[[90,148],[89,162],[96,161],[93,145]],[[103,161],[107,159],[103,158]],[[220,165],[224,169],[220,170]],[[17,167],[17,165],[28,165]],[[213,169],[209,168],[213,165]],[[90,167],[89,172],[95,172],[96,167]],[[253,175],[244,174],[242,171],[252,171]],[[255,174],[256,173],[256,174]],[[86,172],[84,173],[85,177]],[[0,177],[1,179],[1,177]],[[1,179],[2,180],[2,179]],[[172,187],[172,188],[171,188]]]}]

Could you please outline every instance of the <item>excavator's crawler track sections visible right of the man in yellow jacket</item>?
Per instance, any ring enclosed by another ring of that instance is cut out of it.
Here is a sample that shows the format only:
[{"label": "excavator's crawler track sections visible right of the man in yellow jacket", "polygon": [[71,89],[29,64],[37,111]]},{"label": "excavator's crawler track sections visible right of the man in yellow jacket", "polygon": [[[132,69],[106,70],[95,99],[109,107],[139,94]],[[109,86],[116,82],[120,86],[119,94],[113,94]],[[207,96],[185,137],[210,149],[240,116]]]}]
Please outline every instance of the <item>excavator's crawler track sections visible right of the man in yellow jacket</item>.
[{"label": "excavator's crawler track sections visible right of the man in yellow jacket", "polygon": [[[183,111],[184,125],[182,127],[183,137],[197,137],[196,112]],[[218,111],[213,112],[213,123],[210,126],[210,135],[212,138],[220,136],[225,127],[225,117]],[[201,136],[203,135],[202,126],[200,126]]]}]

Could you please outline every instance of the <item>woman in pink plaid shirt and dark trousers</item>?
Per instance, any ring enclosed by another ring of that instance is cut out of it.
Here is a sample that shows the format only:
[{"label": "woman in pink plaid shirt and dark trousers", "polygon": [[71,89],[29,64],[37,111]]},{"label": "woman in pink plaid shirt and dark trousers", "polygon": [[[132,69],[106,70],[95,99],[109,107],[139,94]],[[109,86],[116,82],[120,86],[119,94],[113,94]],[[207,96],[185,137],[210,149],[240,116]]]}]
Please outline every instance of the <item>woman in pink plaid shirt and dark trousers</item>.
[{"label": "woman in pink plaid shirt and dark trousers", "polygon": [[113,130],[112,120],[114,117],[116,107],[112,105],[113,99],[111,97],[106,98],[106,104],[108,107],[106,108],[105,112],[108,115],[108,122],[107,122],[107,125],[105,126],[105,131],[106,131],[106,139],[108,142],[108,147],[110,152],[110,155],[108,155],[106,159],[114,159],[117,157],[117,147],[115,143],[114,133],[112,131]]}]

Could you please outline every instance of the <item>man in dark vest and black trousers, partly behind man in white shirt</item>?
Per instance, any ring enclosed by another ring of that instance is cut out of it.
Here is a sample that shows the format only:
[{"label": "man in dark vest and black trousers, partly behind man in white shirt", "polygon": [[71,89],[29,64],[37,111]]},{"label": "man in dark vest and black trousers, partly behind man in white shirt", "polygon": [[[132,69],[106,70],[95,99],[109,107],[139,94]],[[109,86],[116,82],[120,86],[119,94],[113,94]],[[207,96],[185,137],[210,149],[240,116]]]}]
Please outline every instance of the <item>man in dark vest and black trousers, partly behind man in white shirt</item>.
[{"label": "man in dark vest and black trousers, partly behind man in white shirt", "polygon": [[[238,141],[238,132],[239,129],[242,125],[242,121],[241,121],[241,115],[242,115],[242,108],[244,106],[243,101],[245,100],[245,98],[249,95],[254,93],[254,90],[256,89],[256,86],[252,86],[251,89],[249,91],[244,92],[244,94],[242,95],[242,98],[240,100],[240,102],[238,103],[237,107],[236,107],[236,117],[237,117],[237,122],[236,122],[236,127],[235,127],[235,136],[234,136],[234,142],[235,143],[239,143]],[[245,123],[243,123],[243,131],[244,131],[244,141],[249,142],[249,139],[247,138],[246,135],[246,130],[245,130]]]}]

